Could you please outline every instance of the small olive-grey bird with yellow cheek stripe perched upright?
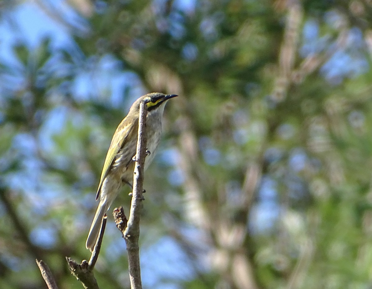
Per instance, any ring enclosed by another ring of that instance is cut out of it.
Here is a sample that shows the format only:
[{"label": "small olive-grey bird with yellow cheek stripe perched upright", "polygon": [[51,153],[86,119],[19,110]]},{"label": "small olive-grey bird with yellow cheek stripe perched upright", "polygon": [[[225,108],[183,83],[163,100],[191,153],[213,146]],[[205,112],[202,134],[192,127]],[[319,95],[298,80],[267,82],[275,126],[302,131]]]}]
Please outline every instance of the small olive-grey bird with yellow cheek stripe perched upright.
[{"label": "small olive-grey bird with yellow cheek stripe perched upright", "polygon": [[97,189],[96,200],[100,198],[99,205],[90,227],[86,247],[90,251],[96,244],[103,216],[116,198],[121,186],[128,184],[132,187],[134,160],[137,146],[138,118],[140,103],[145,98],[147,101],[147,150],[150,152],[145,158],[144,169],[148,168],[154,159],[161,136],[161,121],[164,107],[170,98],[176,94],[165,95],[153,92],[138,98],[131,106],[127,116],[121,121],[116,129],[103,165],[101,179]]}]

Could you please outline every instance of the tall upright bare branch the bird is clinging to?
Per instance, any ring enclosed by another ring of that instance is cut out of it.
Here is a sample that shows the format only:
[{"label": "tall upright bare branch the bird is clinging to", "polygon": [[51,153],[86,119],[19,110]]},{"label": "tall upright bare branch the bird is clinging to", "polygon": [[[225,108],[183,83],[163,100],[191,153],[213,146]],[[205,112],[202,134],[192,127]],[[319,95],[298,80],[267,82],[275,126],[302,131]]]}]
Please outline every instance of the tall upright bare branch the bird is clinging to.
[{"label": "tall upright bare branch the bird is clinging to", "polygon": [[131,201],[131,210],[129,212],[129,220],[126,222],[126,217],[122,208],[114,210],[114,218],[116,226],[122,232],[126,243],[126,251],[128,254],[128,269],[129,279],[131,280],[131,289],[142,289],[141,283],[141,268],[138,240],[140,238],[140,215],[142,210],[141,201],[143,189],[143,171],[146,157],[146,115],[147,115],[147,100],[143,100],[140,104],[140,117],[138,120],[138,140],[137,152],[134,165],[133,178],[133,193]]}]

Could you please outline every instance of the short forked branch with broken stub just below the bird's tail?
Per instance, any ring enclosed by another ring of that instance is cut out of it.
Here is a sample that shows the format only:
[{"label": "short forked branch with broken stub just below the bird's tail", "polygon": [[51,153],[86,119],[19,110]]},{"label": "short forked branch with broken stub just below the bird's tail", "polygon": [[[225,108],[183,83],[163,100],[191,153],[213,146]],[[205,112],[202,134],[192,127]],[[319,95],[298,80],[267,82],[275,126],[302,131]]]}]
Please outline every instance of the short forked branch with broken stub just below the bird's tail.
[{"label": "short forked branch with broken stub just below the bird's tail", "polygon": [[98,235],[98,241],[96,243],[96,246],[94,246],[89,262],[87,262],[87,260],[83,260],[81,264],[78,264],[70,257],[66,257],[71,274],[74,275],[86,289],[99,289],[97,280],[93,275],[93,268],[97,262],[98,254],[101,249],[103,233],[105,233],[106,228],[106,222],[107,216],[105,214],[102,220],[101,230]]}]

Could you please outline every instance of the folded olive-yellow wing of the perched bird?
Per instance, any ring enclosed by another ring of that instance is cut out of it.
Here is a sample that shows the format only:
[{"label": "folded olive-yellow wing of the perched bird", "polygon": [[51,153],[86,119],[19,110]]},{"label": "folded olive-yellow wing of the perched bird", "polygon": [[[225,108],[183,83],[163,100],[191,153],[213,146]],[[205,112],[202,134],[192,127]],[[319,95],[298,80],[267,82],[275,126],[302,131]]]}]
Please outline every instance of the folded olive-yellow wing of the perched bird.
[{"label": "folded olive-yellow wing of the perched bird", "polygon": [[112,137],[109,150],[106,155],[105,164],[103,165],[101,179],[99,181],[99,185],[97,189],[96,200],[99,198],[99,194],[102,188],[103,181],[105,180],[108,172],[110,171],[112,164],[115,161],[116,155],[118,154],[119,150],[123,146],[125,146],[127,136],[132,134],[133,130],[135,130],[136,127],[138,129],[138,121],[134,121],[134,123],[129,123],[126,126],[122,126],[122,123],[121,123],[116,129],[114,136]]}]

